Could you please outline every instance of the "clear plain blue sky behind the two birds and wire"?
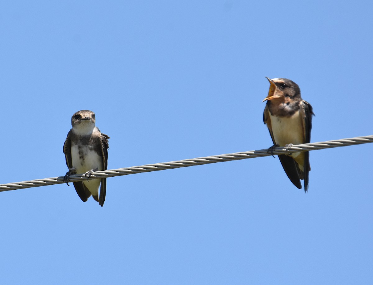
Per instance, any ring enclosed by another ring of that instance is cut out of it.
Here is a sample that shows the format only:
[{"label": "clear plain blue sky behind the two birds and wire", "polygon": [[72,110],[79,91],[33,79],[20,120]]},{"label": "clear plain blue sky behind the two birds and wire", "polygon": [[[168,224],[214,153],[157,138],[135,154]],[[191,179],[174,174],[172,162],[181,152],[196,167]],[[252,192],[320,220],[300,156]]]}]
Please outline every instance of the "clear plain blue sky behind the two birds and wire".
[{"label": "clear plain blue sky behind the two birds and wire", "polygon": [[[67,171],[78,110],[109,169],[272,145],[270,78],[311,103],[311,142],[372,132],[369,1],[3,1],[0,183]],[[1,192],[4,284],[370,284],[372,145]]]}]

